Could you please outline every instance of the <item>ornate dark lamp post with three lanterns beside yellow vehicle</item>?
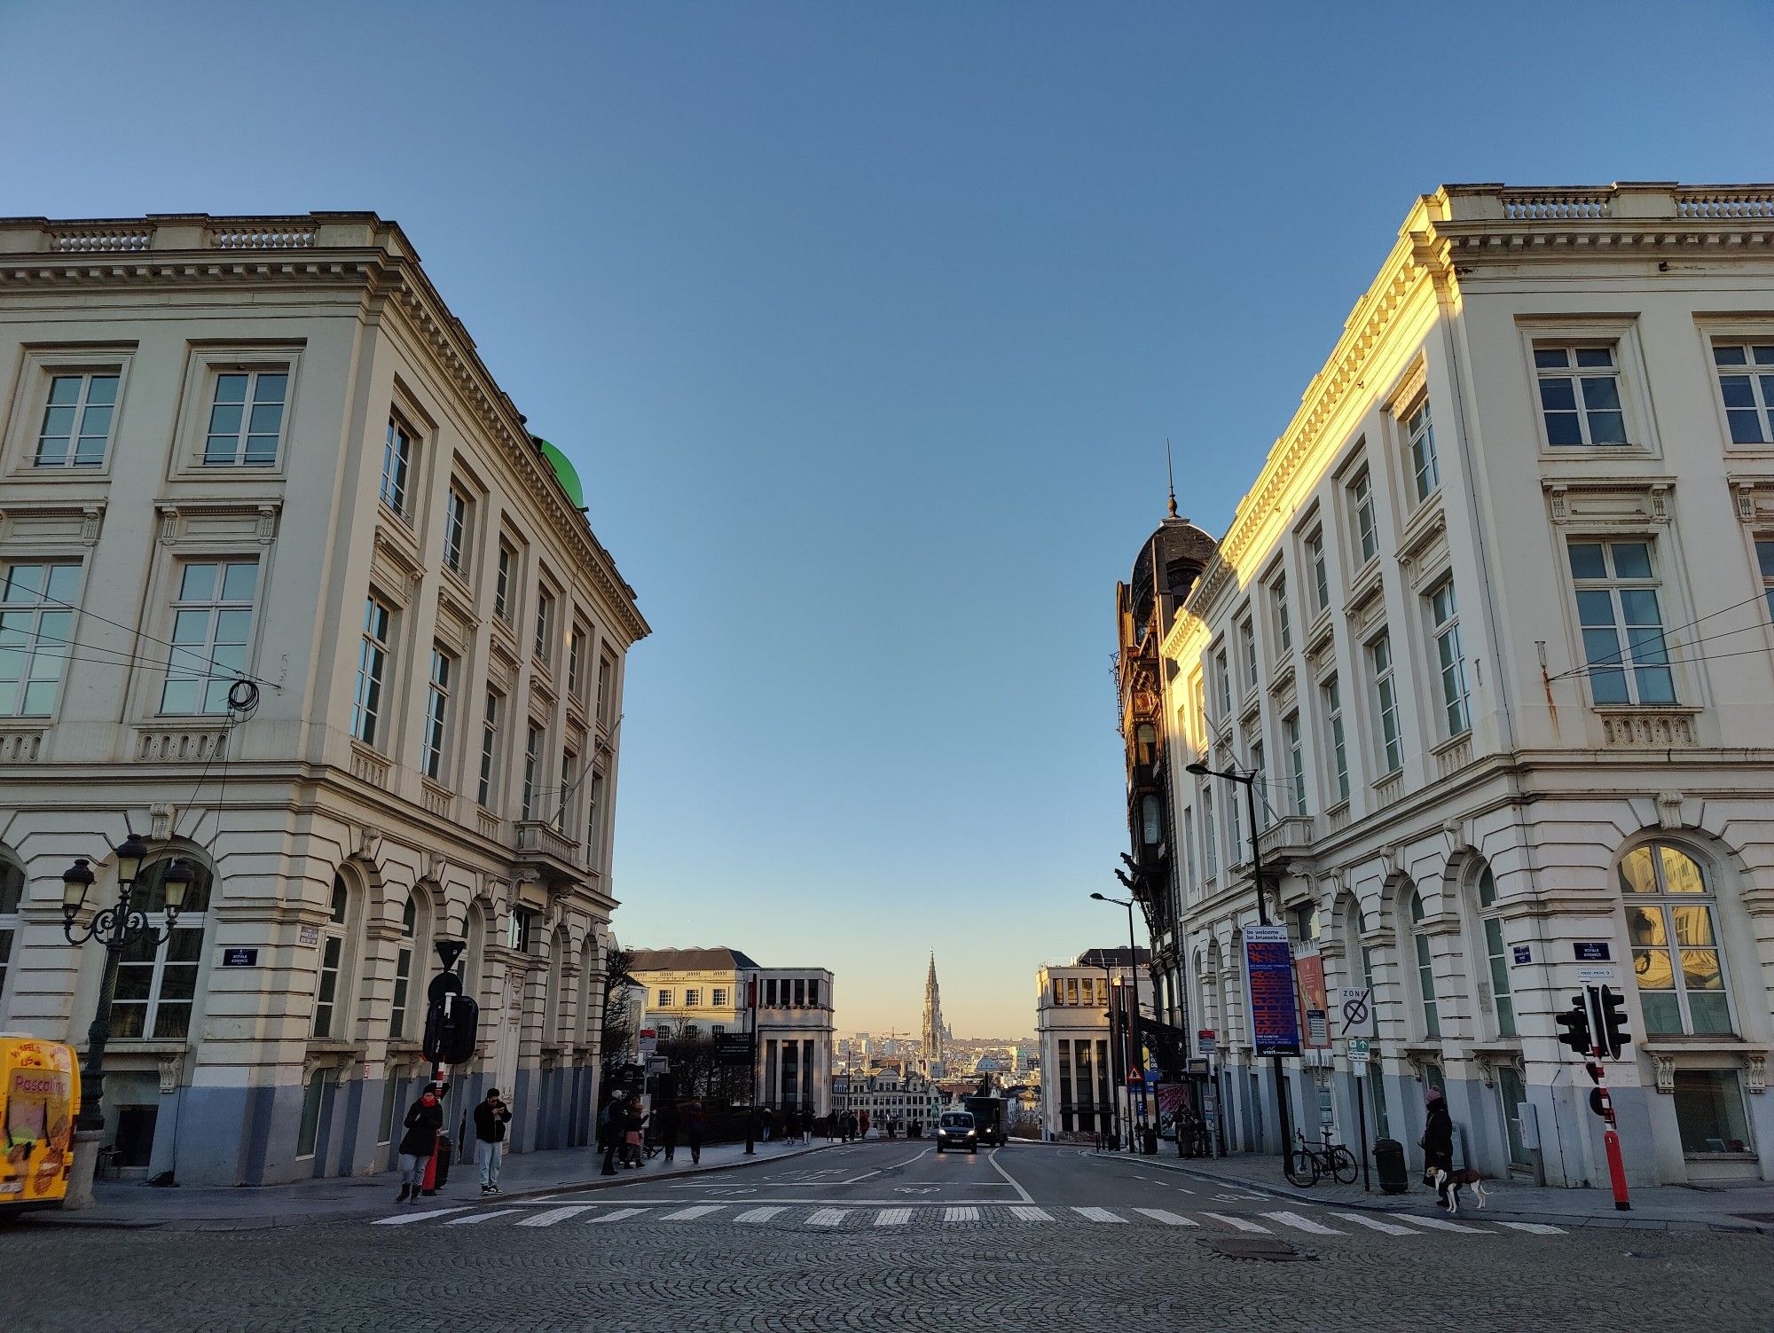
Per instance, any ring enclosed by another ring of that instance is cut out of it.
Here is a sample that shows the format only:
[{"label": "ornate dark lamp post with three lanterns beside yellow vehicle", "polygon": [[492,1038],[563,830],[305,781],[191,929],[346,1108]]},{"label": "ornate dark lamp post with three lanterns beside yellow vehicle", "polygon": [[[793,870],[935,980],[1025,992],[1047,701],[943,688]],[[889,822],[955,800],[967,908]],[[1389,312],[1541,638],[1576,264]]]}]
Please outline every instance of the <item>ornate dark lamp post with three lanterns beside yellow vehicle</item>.
[{"label": "ornate dark lamp post with three lanterns beside yellow vehicle", "polygon": [[69,1179],[67,1205],[85,1207],[92,1202],[92,1173],[98,1166],[98,1142],[105,1133],[105,1044],[110,1041],[110,1010],[117,996],[117,961],[122,950],[144,939],[151,939],[154,948],[167,943],[172,927],[184,906],[184,890],[192,886],[193,872],[190,861],[177,858],[161,876],[165,892],[167,925],[156,929],[147,924],[147,913],[135,902],[135,881],[142,874],[142,861],[147,858],[147,844],[138,833],[131,833],[117,847],[117,902],[101,908],[85,927],[76,927],[92,888],[92,865],[85,856],[75,860],[62,872],[62,934],[71,945],[85,945],[98,939],[105,947],[105,970],[99,973],[99,1000],[92,1010],[92,1025],[87,1028],[87,1056],[80,1069],[80,1115],[75,1120],[75,1173]]}]

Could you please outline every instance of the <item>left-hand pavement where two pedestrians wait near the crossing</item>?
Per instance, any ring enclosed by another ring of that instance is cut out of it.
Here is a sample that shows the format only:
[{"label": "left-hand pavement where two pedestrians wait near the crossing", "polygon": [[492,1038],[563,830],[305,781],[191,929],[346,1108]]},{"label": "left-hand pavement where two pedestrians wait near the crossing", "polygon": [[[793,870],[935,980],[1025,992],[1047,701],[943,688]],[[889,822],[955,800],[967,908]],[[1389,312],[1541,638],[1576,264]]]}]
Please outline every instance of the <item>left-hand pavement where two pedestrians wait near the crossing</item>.
[{"label": "left-hand pavement where two pedestrians wait near the crossing", "polygon": [[[703,1163],[690,1165],[690,1149],[678,1149],[671,1166],[665,1158],[651,1158],[639,1170],[619,1170],[601,1175],[603,1154],[596,1149],[555,1149],[550,1152],[509,1154],[498,1173],[500,1202],[536,1198],[568,1189],[607,1189],[639,1181],[676,1179],[742,1166],[749,1161],[782,1161],[802,1158],[828,1147],[814,1138],[807,1145],[782,1147],[775,1142],[759,1143],[757,1154],[745,1156],[743,1143],[710,1143],[703,1149]],[[176,1188],[154,1189],[140,1181],[98,1181],[98,1204],[78,1212],[27,1212],[18,1227],[165,1227],[170,1230],[232,1232],[266,1227],[302,1227],[312,1221],[387,1214],[401,1207],[394,1197],[401,1191],[399,1172],[380,1175],[348,1175],[294,1184],[229,1188]],[[449,1184],[438,1189],[428,1205],[481,1202],[481,1177],[474,1161],[456,1161]]]}]

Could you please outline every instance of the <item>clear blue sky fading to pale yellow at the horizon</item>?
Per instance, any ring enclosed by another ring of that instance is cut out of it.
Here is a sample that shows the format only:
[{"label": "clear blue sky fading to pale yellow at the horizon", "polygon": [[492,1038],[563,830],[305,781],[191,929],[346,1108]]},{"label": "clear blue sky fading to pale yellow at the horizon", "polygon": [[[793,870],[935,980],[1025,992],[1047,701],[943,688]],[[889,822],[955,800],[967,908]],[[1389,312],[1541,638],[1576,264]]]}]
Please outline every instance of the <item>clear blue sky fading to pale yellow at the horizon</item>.
[{"label": "clear blue sky fading to pale yellow at the horizon", "polygon": [[1767,181],[1774,9],[0,0],[0,213],[374,209],[656,633],[617,929],[1034,1026],[1114,943],[1112,589],[1417,193]]}]

